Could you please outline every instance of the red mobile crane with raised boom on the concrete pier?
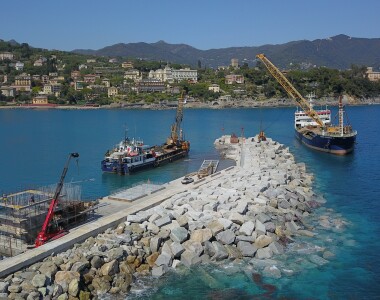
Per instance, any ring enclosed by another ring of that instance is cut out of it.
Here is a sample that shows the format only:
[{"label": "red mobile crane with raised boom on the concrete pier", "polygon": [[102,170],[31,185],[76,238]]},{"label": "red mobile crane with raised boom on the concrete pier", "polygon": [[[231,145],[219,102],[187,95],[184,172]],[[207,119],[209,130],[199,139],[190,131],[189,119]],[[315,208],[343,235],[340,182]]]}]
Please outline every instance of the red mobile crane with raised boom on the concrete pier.
[{"label": "red mobile crane with raised boom on the concrete pier", "polygon": [[67,170],[69,167],[69,162],[70,162],[70,159],[72,157],[79,157],[79,154],[78,153],[70,153],[70,155],[67,159],[66,165],[62,171],[61,179],[59,180],[57,188],[55,190],[53,200],[50,202],[49,211],[46,215],[44,225],[42,226],[41,231],[37,235],[37,238],[36,238],[36,241],[34,244],[36,248],[45,244],[46,242],[48,242],[51,239],[57,239],[57,238],[66,234],[65,230],[63,230],[61,228],[52,229],[49,227],[49,225],[50,225],[51,220],[54,217],[54,209],[58,204],[58,198],[59,198],[59,195],[61,194],[61,191],[62,191],[63,181],[65,180],[66,173],[67,173]]}]

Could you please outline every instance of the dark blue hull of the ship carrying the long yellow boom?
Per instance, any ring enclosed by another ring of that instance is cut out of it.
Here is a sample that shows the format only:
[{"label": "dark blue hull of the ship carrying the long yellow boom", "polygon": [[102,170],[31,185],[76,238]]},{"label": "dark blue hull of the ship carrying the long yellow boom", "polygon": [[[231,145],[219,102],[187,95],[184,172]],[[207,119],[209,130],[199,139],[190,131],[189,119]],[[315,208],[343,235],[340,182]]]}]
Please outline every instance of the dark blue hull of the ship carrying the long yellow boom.
[{"label": "dark blue hull of the ship carrying the long yellow boom", "polygon": [[323,136],[313,132],[295,130],[298,140],[305,146],[314,150],[346,155],[354,150],[356,135],[350,136]]}]

